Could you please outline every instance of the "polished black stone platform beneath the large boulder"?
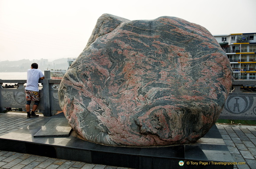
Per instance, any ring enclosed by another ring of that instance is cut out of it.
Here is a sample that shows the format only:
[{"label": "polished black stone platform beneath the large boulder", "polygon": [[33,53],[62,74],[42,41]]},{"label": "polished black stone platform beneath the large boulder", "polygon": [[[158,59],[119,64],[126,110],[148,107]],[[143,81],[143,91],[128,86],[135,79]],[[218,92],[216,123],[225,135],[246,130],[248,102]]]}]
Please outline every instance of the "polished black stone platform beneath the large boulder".
[{"label": "polished black stone platform beneath the large boulder", "polygon": [[[33,137],[53,118],[0,136],[0,150],[136,169],[232,169],[233,158],[216,126],[195,144],[155,148],[115,147],[81,140]],[[58,126],[56,126],[58,127]],[[184,161],[184,165],[179,164]]]}]

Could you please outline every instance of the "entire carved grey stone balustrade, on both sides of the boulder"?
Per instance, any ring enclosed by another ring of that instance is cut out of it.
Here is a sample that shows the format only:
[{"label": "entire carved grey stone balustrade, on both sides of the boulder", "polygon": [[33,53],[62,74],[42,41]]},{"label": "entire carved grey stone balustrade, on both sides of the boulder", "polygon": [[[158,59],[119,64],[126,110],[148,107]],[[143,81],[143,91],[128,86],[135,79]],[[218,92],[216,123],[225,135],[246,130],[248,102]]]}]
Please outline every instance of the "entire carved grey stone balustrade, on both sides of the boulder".
[{"label": "entire carved grey stone balustrade, on both sides of the boulder", "polygon": [[[40,80],[40,104],[38,110],[44,116],[52,116],[61,111],[58,98],[58,87],[61,80],[49,79],[49,72],[44,72],[46,79]],[[17,84],[17,88],[3,88],[3,84]],[[0,108],[25,108],[26,80],[0,80]],[[220,114],[220,119],[256,120],[256,92],[246,93],[241,86],[256,86],[256,80],[235,80],[228,95],[226,104]],[[32,102],[33,103],[33,102]]]}]

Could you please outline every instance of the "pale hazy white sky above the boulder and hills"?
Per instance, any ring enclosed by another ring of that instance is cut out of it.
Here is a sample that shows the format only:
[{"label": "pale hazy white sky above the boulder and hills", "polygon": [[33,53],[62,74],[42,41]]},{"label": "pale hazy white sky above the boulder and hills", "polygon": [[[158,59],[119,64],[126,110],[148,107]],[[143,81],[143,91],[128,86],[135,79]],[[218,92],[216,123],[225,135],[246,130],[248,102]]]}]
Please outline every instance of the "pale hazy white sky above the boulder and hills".
[{"label": "pale hazy white sky above the boulder and hills", "polygon": [[77,57],[104,13],[176,16],[212,35],[256,32],[256,0],[0,0],[0,61]]}]

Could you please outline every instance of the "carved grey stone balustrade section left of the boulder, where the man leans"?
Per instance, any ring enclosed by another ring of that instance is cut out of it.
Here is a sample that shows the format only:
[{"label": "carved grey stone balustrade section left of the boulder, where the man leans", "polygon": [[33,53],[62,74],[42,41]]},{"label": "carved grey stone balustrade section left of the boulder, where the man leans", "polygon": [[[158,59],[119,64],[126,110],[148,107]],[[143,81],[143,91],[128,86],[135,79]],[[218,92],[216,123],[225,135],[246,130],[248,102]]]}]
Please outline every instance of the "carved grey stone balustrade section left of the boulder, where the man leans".
[{"label": "carved grey stone balustrade section left of the boulder, where the man leans", "polygon": [[[58,86],[61,80],[50,79],[50,71],[44,71],[45,79],[39,80],[40,104],[38,110],[44,116],[52,116],[61,111],[58,98]],[[4,83],[17,84],[17,88],[3,88]],[[0,111],[6,107],[25,108],[25,85],[27,80],[0,80]],[[33,105],[33,102],[31,106]]]}]

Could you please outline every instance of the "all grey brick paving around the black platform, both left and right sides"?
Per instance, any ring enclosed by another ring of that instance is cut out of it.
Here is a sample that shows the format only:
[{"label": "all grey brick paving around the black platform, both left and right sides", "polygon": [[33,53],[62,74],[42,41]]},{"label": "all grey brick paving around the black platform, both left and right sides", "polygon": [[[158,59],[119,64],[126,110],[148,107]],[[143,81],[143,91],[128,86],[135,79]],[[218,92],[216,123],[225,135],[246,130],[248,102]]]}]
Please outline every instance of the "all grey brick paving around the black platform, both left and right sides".
[{"label": "all grey brick paving around the black platform, both left and right sides", "polygon": [[[8,134],[45,118],[26,118],[25,113],[0,113],[0,136]],[[256,168],[256,126],[216,124],[234,161],[235,169]],[[31,154],[0,151],[0,169],[128,169],[122,167],[88,164]]]}]

